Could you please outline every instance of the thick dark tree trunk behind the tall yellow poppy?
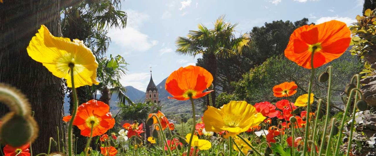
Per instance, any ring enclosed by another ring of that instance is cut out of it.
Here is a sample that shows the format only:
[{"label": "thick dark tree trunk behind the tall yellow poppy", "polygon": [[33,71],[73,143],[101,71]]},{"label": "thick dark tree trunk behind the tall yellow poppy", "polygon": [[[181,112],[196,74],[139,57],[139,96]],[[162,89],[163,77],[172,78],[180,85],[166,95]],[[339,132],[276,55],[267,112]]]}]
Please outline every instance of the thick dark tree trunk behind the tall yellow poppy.
[{"label": "thick dark tree trunk behind the tall yellow poppy", "polygon": [[[41,24],[61,36],[60,0],[5,0],[0,3],[0,82],[20,89],[29,99],[39,136],[32,144],[33,153],[45,153],[49,138],[56,138],[56,127],[63,130],[63,81],[41,63],[32,60],[26,47]],[[0,105],[0,115],[8,112]],[[62,137],[60,137],[62,138]],[[51,151],[57,151],[52,147]]]}]

